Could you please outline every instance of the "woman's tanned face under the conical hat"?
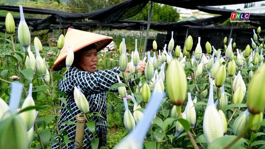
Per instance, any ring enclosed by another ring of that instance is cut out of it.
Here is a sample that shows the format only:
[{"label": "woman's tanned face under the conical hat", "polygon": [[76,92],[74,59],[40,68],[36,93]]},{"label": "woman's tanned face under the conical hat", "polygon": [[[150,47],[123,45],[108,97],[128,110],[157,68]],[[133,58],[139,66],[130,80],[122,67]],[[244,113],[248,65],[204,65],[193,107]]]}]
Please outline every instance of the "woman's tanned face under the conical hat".
[{"label": "woman's tanned face under the conical hat", "polygon": [[94,73],[97,66],[97,50],[91,49],[81,52],[78,68],[82,71]]}]

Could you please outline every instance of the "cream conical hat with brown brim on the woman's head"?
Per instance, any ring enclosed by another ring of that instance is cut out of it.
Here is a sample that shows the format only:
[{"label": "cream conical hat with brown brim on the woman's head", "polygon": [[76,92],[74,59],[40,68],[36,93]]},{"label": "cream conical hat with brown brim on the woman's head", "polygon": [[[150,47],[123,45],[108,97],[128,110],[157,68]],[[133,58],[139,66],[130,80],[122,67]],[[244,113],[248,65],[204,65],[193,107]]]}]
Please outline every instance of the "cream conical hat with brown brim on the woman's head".
[{"label": "cream conical hat with brown brim on the woman's head", "polygon": [[96,45],[97,51],[102,50],[112,42],[112,37],[99,35],[87,31],[68,28],[64,37],[64,46],[56,59],[52,70],[60,71],[65,66],[65,58],[74,44],[74,52],[85,48],[91,44]]}]

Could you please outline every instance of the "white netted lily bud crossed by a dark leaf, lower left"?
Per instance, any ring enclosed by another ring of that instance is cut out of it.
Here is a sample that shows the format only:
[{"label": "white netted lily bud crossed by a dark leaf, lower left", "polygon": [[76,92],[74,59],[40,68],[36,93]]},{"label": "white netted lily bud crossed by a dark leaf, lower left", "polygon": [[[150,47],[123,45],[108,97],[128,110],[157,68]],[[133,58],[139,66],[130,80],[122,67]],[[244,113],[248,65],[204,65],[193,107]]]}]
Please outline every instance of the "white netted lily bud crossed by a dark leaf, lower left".
[{"label": "white netted lily bud crossed by a dark leaf, lower left", "polygon": [[[29,84],[29,94],[22,105],[22,109],[25,109],[26,107],[29,106],[35,106],[35,102],[32,98],[31,93],[32,93],[32,83]],[[27,126],[27,130],[29,130],[32,127],[32,125],[35,123],[35,118],[36,118],[35,113],[36,113],[35,109],[21,113],[21,118],[24,120]]]}]

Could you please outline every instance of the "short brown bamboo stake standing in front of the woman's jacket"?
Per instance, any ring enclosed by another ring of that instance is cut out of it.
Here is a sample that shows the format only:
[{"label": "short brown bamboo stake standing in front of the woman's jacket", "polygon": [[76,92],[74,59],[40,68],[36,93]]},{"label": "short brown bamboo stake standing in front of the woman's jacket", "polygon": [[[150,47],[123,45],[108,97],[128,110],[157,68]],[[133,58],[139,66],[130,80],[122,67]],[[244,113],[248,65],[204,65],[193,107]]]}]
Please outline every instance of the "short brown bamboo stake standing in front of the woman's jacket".
[{"label": "short brown bamboo stake standing in front of the woman's jacket", "polygon": [[76,115],[76,121],[75,149],[83,149],[86,116],[78,114]]}]

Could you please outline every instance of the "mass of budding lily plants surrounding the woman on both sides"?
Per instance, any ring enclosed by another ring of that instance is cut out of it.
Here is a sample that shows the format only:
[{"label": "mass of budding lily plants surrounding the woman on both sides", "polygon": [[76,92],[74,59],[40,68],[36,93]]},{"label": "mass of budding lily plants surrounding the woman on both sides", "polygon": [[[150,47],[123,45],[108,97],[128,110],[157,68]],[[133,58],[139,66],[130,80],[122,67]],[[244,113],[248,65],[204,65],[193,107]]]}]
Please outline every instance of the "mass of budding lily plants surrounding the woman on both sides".
[{"label": "mass of budding lily plants surrounding the woman on both sides", "polygon": [[[30,32],[22,6],[20,12],[17,32],[23,51],[15,49],[15,23],[10,13],[5,22],[11,39],[6,40],[13,47],[7,57],[15,61],[20,82],[0,78],[11,84],[9,104],[0,99],[0,148],[28,149],[32,140],[39,144],[37,148],[46,149],[51,143],[58,143],[61,148],[55,136],[66,145],[73,140],[59,130],[59,111],[67,107],[59,106],[59,100],[66,105],[66,96],[55,86],[71,66],[73,51],[66,57],[67,67],[61,70],[62,75],[53,72],[51,67],[56,57],[50,62],[43,59],[38,38],[34,39],[35,57],[29,48]],[[246,45],[244,50],[236,49],[233,39],[227,45],[225,38],[224,49],[215,50],[207,42],[206,53],[203,53],[200,37],[194,48],[193,39],[188,36],[181,50],[174,45],[172,32],[172,39],[163,50],[158,50],[156,41],[153,42],[154,51],[148,51],[143,58],[147,62],[144,73],[138,72],[141,68],[137,40],[128,63],[123,39],[119,47],[122,73],[116,76],[118,83],[110,90],[117,88],[124,101],[123,123],[128,134],[114,148],[264,149],[265,65],[264,39],[260,33],[260,27],[257,34],[254,30],[251,46]],[[54,51],[57,55],[63,45],[61,35],[58,50]],[[128,64],[130,73],[126,73]],[[8,71],[1,71],[1,76],[6,73]],[[33,86],[37,79],[41,79],[43,85]],[[35,105],[39,92],[51,95],[52,104]],[[88,101],[78,87],[74,92],[76,104],[88,118],[86,125],[91,132],[86,133],[95,136],[96,124],[90,120],[99,115],[89,111]],[[50,116],[36,119],[40,110],[49,112]],[[96,137],[91,141],[93,149],[97,149],[98,141]]]}]

